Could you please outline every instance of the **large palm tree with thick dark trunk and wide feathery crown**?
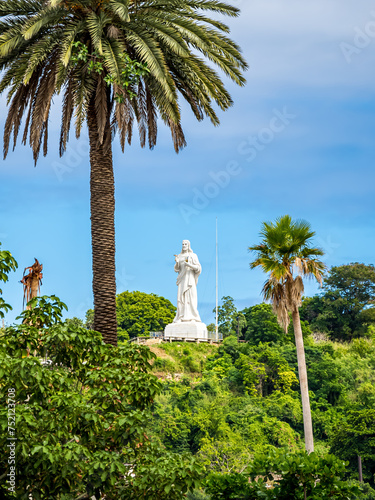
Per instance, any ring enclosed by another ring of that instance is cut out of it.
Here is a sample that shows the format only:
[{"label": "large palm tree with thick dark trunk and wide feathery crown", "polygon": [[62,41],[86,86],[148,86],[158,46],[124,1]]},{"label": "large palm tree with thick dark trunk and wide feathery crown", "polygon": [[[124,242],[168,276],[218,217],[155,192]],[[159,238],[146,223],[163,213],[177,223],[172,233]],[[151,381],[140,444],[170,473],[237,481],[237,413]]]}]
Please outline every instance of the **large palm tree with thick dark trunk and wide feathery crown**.
[{"label": "large palm tree with thick dark trunk and wide feathery crown", "polygon": [[[212,19],[207,16],[212,13]],[[213,66],[239,85],[246,62],[217,15],[238,9],[218,0],[7,0],[0,3],[0,93],[8,90],[4,157],[13,135],[35,163],[47,154],[52,99],[63,94],[60,155],[71,121],[90,142],[94,328],[116,344],[114,177],[111,142],[124,150],[137,122],[140,143],[156,144],[157,119],[185,146],[179,99],[195,117],[219,119],[231,97]]]}]

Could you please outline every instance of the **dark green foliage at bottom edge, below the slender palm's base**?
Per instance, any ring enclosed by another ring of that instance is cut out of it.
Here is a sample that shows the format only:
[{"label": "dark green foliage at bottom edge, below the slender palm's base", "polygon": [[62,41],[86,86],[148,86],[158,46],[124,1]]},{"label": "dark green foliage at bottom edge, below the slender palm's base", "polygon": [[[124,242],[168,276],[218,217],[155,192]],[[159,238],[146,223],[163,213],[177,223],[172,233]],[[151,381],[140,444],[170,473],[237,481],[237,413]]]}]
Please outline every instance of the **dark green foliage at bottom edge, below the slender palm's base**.
[{"label": "dark green foliage at bottom edge, below the slender palm's base", "polygon": [[334,455],[273,451],[256,455],[247,473],[210,474],[205,486],[212,499],[223,500],[365,498],[358,483],[344,479],[346,465]]}]

